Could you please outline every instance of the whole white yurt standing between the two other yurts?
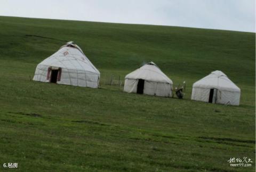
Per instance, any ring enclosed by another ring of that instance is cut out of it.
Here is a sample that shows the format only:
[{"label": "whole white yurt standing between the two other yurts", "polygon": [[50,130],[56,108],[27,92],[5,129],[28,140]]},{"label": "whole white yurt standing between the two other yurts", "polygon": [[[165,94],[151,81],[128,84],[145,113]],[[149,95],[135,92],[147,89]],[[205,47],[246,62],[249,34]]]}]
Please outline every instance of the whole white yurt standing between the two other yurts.
[{"label": "whole white yurt standing between the two other yurts", "polygon": [[125,76],[124,91],[171,97],[172,80],[150,62]]}]

